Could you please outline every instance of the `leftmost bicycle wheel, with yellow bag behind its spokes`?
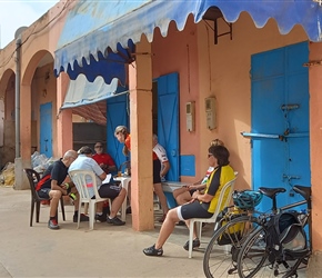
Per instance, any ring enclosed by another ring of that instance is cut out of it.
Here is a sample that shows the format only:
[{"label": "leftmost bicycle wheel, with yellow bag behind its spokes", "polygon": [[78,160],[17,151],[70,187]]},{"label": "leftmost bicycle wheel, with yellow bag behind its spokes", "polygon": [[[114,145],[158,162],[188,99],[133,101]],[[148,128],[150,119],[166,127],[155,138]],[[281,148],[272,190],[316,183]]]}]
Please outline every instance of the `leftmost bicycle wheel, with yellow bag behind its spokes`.
[{"label": "leftmost bicycle wheel, with yellow bag behind its spokes", "polygon": [[237,259],[240,248],[256,222],[251,216],[240,216],[212,236],[203,257],[203,272],[208,278],[238,277]]}]

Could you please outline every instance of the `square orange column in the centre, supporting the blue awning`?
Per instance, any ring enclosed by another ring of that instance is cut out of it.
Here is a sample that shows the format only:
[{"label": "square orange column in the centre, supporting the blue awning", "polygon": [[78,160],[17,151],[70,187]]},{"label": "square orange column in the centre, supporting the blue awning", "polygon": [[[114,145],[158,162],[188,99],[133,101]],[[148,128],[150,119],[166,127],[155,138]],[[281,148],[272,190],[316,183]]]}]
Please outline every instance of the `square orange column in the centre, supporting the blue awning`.
[{"label": "square orange column in the centre, supporting the blue awning", "polygon": [[152,181],[152,60],[151,44],[142,36],[135,62],[129,66],[131,131],[132,227],[154,228]]}]

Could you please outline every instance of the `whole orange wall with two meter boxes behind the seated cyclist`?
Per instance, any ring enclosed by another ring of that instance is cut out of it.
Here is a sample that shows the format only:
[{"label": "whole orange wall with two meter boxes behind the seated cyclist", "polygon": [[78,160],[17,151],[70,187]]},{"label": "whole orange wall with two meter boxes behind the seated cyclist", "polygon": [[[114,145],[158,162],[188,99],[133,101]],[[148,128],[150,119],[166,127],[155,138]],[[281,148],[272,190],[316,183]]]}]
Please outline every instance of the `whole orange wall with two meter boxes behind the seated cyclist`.
[{"label": "whole orange wall with two meter boxes behind the seated cyclist", "polygon": [[[219,20],[219,32],[228,31]],[[195,156],[195,181],[208,168],[208,147],[214,138],[222,139],[231,152],[231,165],[239,171],[238,187],[251,186],[250,140],[240,132],[251,129],[251,54],[306,40],[301,27],[281,36],[275,21],[258,29],[248,13],[233,23],[232,40],[220,37],[214,44],[213,22],[193,23],[190,17],[182,32],[170,26],[167,38],[158,31],[152,43],[153,77],[178,71],[180,76],[180,153]],[[207,129],[204,99],[217,99],[217,126]],[[195,132],[185,130],[185,102],[195,101]],[[193,142],[193,143],[191,143]]]}]

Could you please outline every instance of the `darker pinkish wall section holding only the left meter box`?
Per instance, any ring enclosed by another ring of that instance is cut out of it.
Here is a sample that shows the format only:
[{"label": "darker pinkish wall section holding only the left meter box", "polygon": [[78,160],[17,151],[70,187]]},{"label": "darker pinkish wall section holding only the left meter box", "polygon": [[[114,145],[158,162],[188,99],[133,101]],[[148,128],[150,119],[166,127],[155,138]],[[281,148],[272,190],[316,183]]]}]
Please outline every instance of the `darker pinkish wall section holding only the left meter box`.
[{"label": "darker pinkish wall section holding only the left meter box", "polygon": [[[194,155],[199,159],[200,126],[195,125],[195,131],[189,132],[185,128],[185,102],[199,101],[199,64],[197,26],[190,18],[183,31],[178,31],[172,21],[168,36],[163,38],[159,29],[154,31],[152,42],[153,78],[171,72],[179,72],[179,108],[180,108],[180,155]],[[199,109],[197,109],[195,122],[199,122]],[[193,143],[191,143],[193,141]],[[198,161],[198,160],[197,160]],[[202,171],[204,171],[204,167]],[[197,163],[198,178],[201,172]],[[195,177],[181,177],[182,180],[195,181]]]}]

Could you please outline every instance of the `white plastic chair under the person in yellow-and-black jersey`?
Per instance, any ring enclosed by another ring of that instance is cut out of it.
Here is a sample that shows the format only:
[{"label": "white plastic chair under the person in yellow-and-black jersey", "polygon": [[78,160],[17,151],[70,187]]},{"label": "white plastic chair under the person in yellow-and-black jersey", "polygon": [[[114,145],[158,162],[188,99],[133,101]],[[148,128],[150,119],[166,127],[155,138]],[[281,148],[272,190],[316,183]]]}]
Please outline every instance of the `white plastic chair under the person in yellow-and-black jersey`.
[{"label": "white plastic chair under the person in yellow-and-black jersey", "polygon": [[[189,226],[189,258],[192,258],[192,244],[193,244],[193,226],[194,222],[197,224],[195,229],[197,229],[197,235],[199,240],[201,240],[201,230],[202,230],[202,222],[207,222],[207,224],[211,224],[211,222],[215,222],[217,221],[217,217],[219,215],[219,212],[225,208],[230,201],[231,201],[231,196],[233,192],[233,188],[234,188],[234,182],[235,182],[234,178],[233,180],[227,182],[223,188],[220,191],[219,198],[218,198],[218,205],[215,207],[214,214],[211,218],[191,218],[189,219],[190,221],[190,226]],[[225,199],[223,199],[223,197],[227,196]],[[214,226],[215,227],[215,226]]]}]

